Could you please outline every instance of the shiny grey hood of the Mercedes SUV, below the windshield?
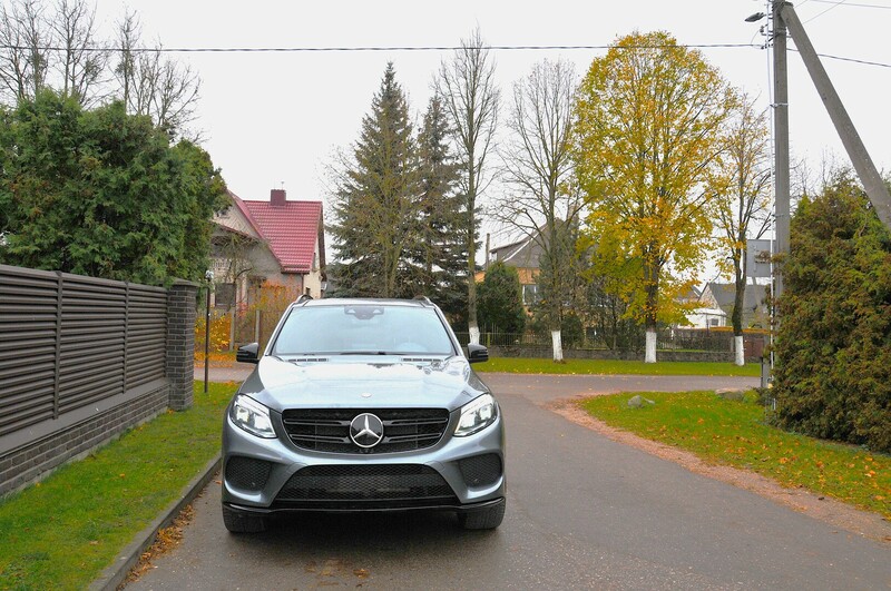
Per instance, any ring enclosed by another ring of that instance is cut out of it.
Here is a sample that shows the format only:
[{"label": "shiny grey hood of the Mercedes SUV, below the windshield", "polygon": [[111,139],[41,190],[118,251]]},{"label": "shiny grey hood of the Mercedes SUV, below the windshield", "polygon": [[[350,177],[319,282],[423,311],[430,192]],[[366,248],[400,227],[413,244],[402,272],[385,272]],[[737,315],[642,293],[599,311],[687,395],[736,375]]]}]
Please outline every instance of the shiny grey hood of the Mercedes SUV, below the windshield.
[{"label": "shiny grey hood of the Mercedes SUV, below the windshield", "polygon": [[272,410],[440,407],[453,411],[488,392],[463,357],[404,361],[331,356],[285,361],[264,356],[241,387]]}]

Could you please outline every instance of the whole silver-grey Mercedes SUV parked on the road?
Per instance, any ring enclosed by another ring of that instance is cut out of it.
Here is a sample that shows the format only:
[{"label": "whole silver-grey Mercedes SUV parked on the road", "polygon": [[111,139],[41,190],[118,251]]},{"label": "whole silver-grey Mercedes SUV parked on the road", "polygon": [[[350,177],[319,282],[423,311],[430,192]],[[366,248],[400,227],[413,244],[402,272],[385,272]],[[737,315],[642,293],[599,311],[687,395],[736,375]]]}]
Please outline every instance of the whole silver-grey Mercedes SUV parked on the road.
[{"label": "whole silver-grey Mercedes SUV parked on the road", "polygon": [[449,510],[505,516],[501,410],[429,299],[292,304],[223,425],[223,521],[258,532],[300,511]]}]

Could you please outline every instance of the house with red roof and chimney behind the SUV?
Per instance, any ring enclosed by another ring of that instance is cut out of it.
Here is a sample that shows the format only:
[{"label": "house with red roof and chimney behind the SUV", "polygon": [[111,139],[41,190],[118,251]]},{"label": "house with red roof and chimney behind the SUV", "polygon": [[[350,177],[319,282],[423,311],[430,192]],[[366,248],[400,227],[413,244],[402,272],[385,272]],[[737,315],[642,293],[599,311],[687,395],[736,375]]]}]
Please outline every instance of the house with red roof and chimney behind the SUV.
[{"label": "house with red roof and chimney behind the SUV", "polygon": [[288,200],[272,189],[270,200],[242,199],[214,217],[212,258],[217,307],[247,304],[251,289],[285,288],[294,297],[325,289],[322,201]]}]

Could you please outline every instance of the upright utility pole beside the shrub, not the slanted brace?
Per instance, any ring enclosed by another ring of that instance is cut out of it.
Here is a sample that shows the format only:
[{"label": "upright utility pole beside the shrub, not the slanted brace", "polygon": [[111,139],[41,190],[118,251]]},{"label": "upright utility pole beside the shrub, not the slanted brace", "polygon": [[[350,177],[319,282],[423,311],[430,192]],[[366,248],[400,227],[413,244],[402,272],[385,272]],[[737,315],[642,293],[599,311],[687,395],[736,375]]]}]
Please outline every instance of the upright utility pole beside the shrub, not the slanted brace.
[{"label": "upright utility pole beside the shrub, not the slanted brace", "polygon": [[[773,1],[773,126],[774,126],[774,224],[779,273],[774,273],[774,298],[783,295],[782,262],[789,255],[789,76],[786,67],[786,24],[781,10],[789,2]],[[776,268],[777,263],[774,263]],[[775,313],[774,313],[775,314]]]}]

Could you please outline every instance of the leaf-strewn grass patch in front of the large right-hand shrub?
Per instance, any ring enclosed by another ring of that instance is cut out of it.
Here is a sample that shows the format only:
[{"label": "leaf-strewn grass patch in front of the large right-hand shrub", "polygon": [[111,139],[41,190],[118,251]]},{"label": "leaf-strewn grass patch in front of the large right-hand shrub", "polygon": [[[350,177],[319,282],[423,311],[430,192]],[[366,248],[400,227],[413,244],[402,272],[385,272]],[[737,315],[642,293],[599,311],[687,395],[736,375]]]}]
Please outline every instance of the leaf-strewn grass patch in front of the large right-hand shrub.
[{"label": "leaf-strewn grass patch in front of the large right-hand shrub", "polygon": [[752,470],[790,487],[891,518],[891,456],[786,433],[764,422],[754,393],[743,402],[714,392],[645,393],[653,406],[628,407],[633,394],[598,396],[584,408],[605,423],[694,452],[704,460]]}]

